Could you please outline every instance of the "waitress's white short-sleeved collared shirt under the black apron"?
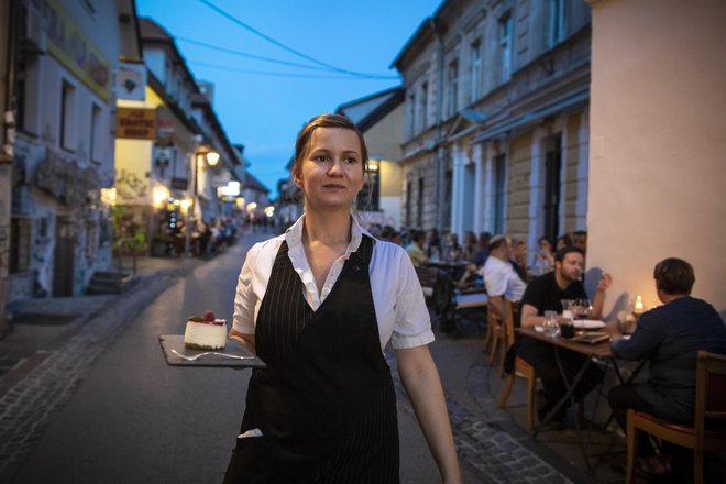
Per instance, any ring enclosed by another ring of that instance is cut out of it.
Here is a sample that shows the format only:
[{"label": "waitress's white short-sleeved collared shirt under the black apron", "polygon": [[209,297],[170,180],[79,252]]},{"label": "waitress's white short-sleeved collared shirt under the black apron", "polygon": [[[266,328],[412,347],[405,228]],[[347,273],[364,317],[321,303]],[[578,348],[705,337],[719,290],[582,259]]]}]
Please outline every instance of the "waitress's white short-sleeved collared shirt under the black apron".
[{"label": "waitress's white short-sleeved collared shirt under the black apron", "polygon": [[[289,248],[288,256],[300,276],[305,299],[312,310],[318,310],[332,290],[345,261],[361,244],[363,235],[370,235],[352,218],[351,241],[345,253],[330,268],[322,292],[318,294],[310,264],[302,246],[305,216],[287,232],[274,239],[256,243],[250,249],[242,266],[234,297],[233,328],[243,334],[254,334],[260,306],[265,297],[275,257],[283,241]],[[431,320],[424,300],[424,292],[414,265],[406,251],[392,242],[374,239],[369,266],[371,292],[381,336],[381,349],[388,341],[395,349],[415,348],[433,341]]]}]

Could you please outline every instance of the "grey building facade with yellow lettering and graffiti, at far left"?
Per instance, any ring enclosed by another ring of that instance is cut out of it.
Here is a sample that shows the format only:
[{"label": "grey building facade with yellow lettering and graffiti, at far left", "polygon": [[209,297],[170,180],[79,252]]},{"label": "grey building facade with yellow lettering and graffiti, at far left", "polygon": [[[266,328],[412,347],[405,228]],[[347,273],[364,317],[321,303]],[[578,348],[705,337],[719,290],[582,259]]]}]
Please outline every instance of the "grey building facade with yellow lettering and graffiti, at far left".
[{"label": "grey building facade with yellow lettering and graffiti, at far left", "polygon": [[9,30],[16,48],[7,300],[79,295],[110,263],[101,189],[113,183],[113,80],[120,59],[141,56],[135,7],[11,3],[18,29]]}]

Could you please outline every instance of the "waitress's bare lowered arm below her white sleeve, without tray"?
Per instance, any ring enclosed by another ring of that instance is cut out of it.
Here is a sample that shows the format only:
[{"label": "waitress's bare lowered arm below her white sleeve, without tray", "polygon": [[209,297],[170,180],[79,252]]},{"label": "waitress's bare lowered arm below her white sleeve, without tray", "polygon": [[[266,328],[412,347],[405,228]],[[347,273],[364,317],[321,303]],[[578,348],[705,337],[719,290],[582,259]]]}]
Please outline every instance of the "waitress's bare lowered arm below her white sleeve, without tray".
[{"label": "waitress's bare lowered arm below her white sleeve, without tray", "polygon": [[418,422],[439,466],[441,482],[460,484],[461,473],[443,388],[429,346],[396,350],[396,362]]}]

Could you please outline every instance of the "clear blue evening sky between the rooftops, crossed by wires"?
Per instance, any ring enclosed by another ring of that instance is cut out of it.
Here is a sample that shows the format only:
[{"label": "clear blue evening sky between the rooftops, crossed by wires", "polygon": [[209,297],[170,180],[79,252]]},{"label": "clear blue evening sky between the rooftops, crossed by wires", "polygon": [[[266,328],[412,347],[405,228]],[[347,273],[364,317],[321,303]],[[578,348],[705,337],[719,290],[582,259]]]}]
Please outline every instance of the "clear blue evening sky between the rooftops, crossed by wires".
[{"label": "clear blue evening sky between the rooftops, crossed by wires", "polygon": [[[250,170],[276,196],[299,129],[316,114],[400,84],[392,61],[441,0],[136,0],[177,37],[197,79],[215,84],[215,110]],[[301,54],[362,78],[244,57],[198,43],[320,68],[263,40],[211,6]],[[190,42],[191,41],[191,42]],[[277,73],[260,74],[260,73]],[[307,77],[302,77],[307,76]]]}]

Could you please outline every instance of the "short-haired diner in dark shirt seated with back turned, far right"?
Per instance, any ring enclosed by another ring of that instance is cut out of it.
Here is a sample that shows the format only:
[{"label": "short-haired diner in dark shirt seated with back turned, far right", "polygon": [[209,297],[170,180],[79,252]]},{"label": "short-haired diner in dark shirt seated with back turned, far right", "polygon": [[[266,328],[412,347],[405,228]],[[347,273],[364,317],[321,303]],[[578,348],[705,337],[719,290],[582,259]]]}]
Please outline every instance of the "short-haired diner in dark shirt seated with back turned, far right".
[{"label": "short-haired diner in dark shirt seated with back turned, far right", "polygon": [[[613,414],[626,429],[628,408],[675,424],[692,425],[695,411],[695,370],[700,350],[726,354],[726,327],[708,302],[691,296],[693,267],[681,258],[666,258],[653,271],[658,299],[663,302],[645,312],[630,339],[619,324],[609,323],[613,352],[624,360],[650,362],[647,383],[620,385],[609,393]],[[640,433],[639,466],[647,472],[669,473],[666,452],[658,457]]]}]

